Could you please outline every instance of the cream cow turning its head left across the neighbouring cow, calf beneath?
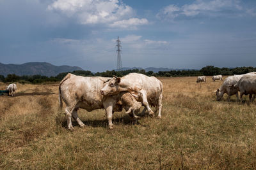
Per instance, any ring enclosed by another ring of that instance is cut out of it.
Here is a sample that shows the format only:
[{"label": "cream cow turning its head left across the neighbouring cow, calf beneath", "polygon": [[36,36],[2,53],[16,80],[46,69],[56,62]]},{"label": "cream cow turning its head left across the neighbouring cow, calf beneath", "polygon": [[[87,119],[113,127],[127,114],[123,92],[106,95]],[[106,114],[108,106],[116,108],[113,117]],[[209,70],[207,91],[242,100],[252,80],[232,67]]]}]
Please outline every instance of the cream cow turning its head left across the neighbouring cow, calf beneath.
[{"label": "cream cow turning its head left across the neighbouring cow, calf beneath", "polygon": [[149,104],[157,106],[157,117],[161,118],[163,84],[156,77],[148,77],[138,73],[130,73],[123,77],[114,76],[101,89],[101,94],[104,96],[111,96],[120,92],[131,92],[132,96],[136,96],[147,108],[150,116],[154,115],[154,111],[150,109]]}]

